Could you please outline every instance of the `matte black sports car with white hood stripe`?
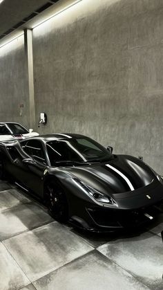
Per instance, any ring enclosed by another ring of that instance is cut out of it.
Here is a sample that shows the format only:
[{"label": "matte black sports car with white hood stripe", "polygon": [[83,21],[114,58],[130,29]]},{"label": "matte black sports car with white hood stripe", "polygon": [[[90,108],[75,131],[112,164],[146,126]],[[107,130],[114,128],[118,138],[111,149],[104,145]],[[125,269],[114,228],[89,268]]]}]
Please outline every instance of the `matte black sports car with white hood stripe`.
[{"label": "matte black sports car with white hood stripe", "polygon": [[115,230],[153,219],[163,181],[138,158],[112,154],[78,134],[0,143],[0,175],[44,199],[57,221],[87,230]]}]

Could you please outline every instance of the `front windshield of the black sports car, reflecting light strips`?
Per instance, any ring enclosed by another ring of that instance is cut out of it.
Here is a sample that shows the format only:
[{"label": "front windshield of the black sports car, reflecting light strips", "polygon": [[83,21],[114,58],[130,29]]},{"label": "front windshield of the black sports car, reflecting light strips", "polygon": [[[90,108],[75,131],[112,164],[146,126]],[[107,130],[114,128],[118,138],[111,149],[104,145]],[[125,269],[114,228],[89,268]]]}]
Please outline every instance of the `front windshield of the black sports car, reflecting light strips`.
[{"label": "front windshield of the black sports car, reflecting light strips", "polygon": [[46,143],[50,164],[72,161],[78,163],[102,162],[113,158],[111,152],[88,137]]}]

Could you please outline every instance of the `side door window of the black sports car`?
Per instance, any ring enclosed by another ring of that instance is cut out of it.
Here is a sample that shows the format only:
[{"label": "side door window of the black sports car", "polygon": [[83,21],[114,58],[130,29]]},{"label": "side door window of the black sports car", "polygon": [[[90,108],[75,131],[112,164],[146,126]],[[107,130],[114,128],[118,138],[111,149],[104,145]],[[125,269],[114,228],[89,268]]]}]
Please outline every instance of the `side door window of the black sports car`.
[{"label": "side door window of the black sports car", "polygon": [[40,141],[30,140],[22,144],[23,151],[30,155],[35,161],[46,163],[44,149]]}]

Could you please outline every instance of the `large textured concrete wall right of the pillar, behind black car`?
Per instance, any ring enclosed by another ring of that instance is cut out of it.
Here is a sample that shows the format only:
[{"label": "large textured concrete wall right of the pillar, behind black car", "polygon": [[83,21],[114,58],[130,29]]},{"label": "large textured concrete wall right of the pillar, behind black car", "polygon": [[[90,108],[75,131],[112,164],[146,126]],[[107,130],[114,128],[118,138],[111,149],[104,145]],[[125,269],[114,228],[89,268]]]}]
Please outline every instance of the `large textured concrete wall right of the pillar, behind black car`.
[{"label": "large textured concrete wall right of the pillar, behind black car", "polygon": [[163,173],[163,2],[83,0],[35,28],[40,132],[78,132]]}]

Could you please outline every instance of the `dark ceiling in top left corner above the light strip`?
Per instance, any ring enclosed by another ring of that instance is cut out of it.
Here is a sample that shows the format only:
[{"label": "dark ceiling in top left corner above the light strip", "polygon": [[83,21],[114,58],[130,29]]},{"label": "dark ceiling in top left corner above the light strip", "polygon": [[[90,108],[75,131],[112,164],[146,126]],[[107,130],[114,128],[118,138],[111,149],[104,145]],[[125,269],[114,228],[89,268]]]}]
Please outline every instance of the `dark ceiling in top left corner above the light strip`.
[{"label": "dark ceiling in top left corner above the light strip", "polygon": [[0,39],[59,0],[3,0],[0,3]]}]

